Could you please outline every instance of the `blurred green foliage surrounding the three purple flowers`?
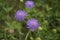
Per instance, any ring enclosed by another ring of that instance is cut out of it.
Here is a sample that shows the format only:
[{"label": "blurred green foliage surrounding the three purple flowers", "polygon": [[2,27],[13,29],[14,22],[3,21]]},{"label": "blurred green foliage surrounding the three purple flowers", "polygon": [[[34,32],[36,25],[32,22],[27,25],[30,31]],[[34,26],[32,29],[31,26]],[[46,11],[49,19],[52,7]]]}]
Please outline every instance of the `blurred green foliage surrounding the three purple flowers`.
[{"label": "blurred green foliage surrounding the three purple flowers", "polygon": [[[25,6],[28,0],[0,0],[0,40],[25,40],[29,31],[26,21],[36,18],[40,27],[27,40],[60,40],[60,0],[32,0],[35,7]],[[17,21],[17,10],[28,14],[25,21]]]}]

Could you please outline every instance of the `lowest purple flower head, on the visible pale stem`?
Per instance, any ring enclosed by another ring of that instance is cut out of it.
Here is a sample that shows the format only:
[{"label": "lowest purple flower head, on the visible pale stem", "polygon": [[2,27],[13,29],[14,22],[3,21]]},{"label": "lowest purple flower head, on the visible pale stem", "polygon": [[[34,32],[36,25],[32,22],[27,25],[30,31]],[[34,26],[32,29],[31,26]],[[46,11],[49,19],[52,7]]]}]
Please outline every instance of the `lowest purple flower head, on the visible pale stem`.
[{"label": "lowest purple flower head, on the visible pale stem", "polygon": [[27,26],[31,31],[35,31],[39,27],[39,23],[36,19],[30,19],[27,22]]}]

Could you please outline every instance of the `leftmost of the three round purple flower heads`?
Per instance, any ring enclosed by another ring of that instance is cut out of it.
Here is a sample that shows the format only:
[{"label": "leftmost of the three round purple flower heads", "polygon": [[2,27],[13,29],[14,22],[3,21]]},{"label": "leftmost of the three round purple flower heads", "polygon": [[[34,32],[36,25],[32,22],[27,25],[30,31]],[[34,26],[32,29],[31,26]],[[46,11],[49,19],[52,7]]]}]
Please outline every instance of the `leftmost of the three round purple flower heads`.
[{"label": "leftmost of the three round purple flower heads", "polygon": [[15,19],[18,21],[23,21],[27,16],[27,13],[24,10],[18,10],[15,14]]}]

